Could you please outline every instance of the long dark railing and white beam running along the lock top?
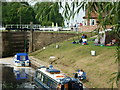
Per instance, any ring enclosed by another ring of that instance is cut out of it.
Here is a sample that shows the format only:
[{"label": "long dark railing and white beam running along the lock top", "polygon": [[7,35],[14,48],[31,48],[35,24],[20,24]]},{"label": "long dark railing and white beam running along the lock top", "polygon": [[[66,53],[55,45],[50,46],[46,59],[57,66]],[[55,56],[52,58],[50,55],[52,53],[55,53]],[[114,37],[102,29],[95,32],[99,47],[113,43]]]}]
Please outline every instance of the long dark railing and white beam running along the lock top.
[{"label": "long dark railing and white beam running along the lock top", "polygon": [[25,31],[70,31],[62,27],[41,26],[40,24],[7,24],[4,26],[6,30],[25,30]]}]

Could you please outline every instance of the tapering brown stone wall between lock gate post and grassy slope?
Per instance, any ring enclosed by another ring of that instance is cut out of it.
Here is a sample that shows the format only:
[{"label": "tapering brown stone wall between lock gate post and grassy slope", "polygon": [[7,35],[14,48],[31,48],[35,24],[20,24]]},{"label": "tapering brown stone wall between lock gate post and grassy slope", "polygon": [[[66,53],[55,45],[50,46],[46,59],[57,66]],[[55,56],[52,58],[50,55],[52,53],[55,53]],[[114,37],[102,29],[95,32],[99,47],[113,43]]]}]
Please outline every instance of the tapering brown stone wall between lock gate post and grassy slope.
[{"label": "tapering brown stone wall between lock gate post and grassy slope", "polygon": [[34,32],[33,33],[33,51],[39,50],[44,46],[66,40],[76,34],[54,33],[54,32]]}]

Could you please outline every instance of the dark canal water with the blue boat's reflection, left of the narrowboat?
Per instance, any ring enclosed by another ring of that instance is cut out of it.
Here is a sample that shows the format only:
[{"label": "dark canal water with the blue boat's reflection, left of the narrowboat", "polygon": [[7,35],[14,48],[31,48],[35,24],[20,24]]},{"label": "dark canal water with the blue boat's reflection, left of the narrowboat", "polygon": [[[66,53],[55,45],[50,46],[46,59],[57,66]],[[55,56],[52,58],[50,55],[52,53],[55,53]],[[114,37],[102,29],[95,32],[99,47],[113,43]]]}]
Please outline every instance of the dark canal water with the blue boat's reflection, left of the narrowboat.
[{"label": "dark canal water with the blue boat's reflection, left of the narrowboat", "polygon": [[2,65],[3,90],[35,90],[34,70],[30,67],[10,67]]}]

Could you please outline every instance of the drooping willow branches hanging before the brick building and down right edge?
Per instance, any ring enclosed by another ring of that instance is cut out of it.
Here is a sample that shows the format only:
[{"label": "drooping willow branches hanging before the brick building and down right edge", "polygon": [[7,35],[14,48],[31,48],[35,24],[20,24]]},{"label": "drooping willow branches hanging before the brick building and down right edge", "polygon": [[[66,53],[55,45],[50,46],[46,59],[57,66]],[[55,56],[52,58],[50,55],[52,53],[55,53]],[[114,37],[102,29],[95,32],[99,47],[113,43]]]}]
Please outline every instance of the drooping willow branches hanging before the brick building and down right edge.
[{"label": "drooping willow branches hanging before the brick building and down right edge", "polygon": [[[75,0],[76,1],[76,0]],[[76,8],[76,10],[75,10]],[[116,34],[117,42],[117,53],[116,62],[118,63],[118,71],[114,72],[115,77],[111,78],[111,81],[116,81],[117,86],[120,85],[120,2],[88,2],[86,0],[83,2],[72,2],[68,4],[66,2],[64,7],[64,15],[67,19],[73,18],[75,14],[78,14],[80,9],[86,10],[88,14],[88,19],[91,12],[98,14],[98,30],[102,27],[103,30],[107,25],[113,27],[113,32]],[[69,11],[68,11],[69,10]],[[102,17],[104,14],[104,18]]]}]

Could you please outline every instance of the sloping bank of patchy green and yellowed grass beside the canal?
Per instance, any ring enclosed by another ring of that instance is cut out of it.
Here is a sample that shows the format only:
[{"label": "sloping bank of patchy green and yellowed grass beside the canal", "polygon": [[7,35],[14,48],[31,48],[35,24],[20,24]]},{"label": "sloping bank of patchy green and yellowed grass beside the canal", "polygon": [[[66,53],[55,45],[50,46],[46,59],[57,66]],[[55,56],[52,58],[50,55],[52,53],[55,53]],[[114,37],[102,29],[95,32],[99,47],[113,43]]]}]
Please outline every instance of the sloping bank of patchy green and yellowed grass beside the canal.
[{"label": "sloping bank of patchy green and yellowed grass beside the canal", "polygon": [[[52,44],[45,50],[38,50],[31,55],[52,63],[69,76],[73,76],[77,69],[83,69],[87,73],[84,85],[88,88],[111,88],[111,83],[108,82],[111,74],[117,71],[116,46],[94,46],[93,41],[89,41],[89,45],[80,45],[72,44],[72,41],[73,38]],[[59,49],[55,48],[57,44],[60,46]],[[91,56],[91,50],[96,51],[96,56]],[[55,59],[50,59],[50,56],[55,56]]]}]

